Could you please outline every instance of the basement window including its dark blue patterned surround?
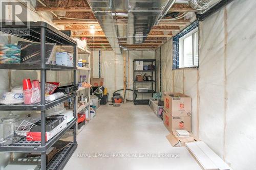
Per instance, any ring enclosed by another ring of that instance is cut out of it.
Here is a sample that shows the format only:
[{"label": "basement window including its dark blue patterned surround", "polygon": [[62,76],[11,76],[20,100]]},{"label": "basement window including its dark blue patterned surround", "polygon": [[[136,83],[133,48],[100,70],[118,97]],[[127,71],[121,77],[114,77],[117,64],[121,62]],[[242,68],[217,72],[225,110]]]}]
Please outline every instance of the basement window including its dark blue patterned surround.
[{"label": "basement window including its dark blue patterned surround", "polygon": [[173,37],[173,69],[199,66],[198,27],[195,21]]}]

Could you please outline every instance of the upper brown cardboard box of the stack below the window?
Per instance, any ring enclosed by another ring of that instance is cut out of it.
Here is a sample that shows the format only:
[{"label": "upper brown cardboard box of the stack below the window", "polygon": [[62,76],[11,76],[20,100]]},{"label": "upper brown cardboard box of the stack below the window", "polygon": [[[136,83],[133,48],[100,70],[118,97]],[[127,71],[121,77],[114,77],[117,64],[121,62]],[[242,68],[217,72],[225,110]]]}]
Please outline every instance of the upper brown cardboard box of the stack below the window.
[{"label": "upper brown cardboard box of the stack below the window", "polygon": [[191,98],[181,93],[164,93],[164,110],[172,116],[191,116]]}]

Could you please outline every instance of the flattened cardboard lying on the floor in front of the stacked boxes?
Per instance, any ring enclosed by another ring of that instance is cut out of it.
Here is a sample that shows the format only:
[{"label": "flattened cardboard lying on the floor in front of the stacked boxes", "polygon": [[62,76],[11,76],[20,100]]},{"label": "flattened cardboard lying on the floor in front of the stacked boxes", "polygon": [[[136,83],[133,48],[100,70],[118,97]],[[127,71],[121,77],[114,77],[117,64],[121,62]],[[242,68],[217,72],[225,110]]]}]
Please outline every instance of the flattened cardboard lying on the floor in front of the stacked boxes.
[{"label": "flattened cardboard lying on the floor in front of the stacked boxes", "polygon": [[172,130],[172,132],[167,135],[166,138],[173,147],[185,147],[185,142],[198,141],[198,139],[196,139],[192,134],[187,137],[180,137],[177,135],[176,130]]}]

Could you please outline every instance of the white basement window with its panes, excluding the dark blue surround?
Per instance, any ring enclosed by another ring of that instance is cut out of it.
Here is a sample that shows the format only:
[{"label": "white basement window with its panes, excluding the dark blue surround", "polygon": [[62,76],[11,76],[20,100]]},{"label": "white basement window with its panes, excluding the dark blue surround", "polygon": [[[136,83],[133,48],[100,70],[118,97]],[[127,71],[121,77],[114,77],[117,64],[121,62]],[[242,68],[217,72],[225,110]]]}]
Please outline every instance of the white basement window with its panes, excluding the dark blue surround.
[{"label": "white basement window with its panes, excluding the dark blue surround", "polygon": [[198,67],[198,28],[179,38],[179,68]]}]

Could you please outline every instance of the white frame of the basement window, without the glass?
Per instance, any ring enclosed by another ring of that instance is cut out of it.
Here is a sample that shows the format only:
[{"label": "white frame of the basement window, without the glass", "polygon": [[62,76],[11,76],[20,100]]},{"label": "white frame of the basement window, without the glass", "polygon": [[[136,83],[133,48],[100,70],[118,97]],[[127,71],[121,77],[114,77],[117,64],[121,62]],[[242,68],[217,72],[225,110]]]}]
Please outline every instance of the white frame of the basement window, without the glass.
[{"label": "white frame of the basement window, without the glass", "polygon": [[[195,50],[194,34],[196,32],[199,33],[198,27],[191,30],[190,32],[188,32],[187,34],[185,34],[184,36],[179,38],[179,68],[198,68],[199,67],[199,61],[198,61],[198,65],[195,65],[195,63],[194,63],[194,50]],[[184,52],[184,39],[188,38],[191,35],[192,35],[192,62],[193,62],[193,65],[192,66],[184,66],[184,54],[183,54],[183,52]],[[198,39],[199,39],[199,37],[198,37]],[[198,42],[198,49],[199,49],[199,42]],[[182,67],[181,67],[181,64],[182,64]]]}]

